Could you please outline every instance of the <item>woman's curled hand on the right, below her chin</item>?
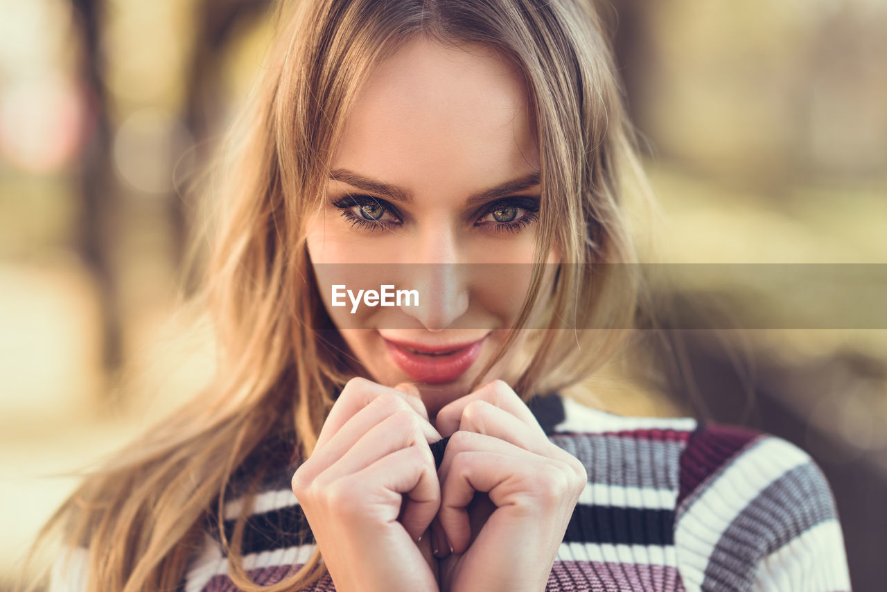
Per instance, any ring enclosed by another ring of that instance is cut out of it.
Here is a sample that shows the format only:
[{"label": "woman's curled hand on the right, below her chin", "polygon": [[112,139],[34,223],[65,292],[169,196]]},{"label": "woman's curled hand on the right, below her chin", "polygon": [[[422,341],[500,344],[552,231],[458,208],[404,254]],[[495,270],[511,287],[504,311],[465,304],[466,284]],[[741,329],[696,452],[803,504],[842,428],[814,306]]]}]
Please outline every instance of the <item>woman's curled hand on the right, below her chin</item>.
[{"label": "woman's curled hand on the right, below her chin", "polygon": [[452,401],[436,424],[451,436],[432,534],[444,556],[441,589],[544,590],[588,480],[585,467],[546,437],[502,381]]}]

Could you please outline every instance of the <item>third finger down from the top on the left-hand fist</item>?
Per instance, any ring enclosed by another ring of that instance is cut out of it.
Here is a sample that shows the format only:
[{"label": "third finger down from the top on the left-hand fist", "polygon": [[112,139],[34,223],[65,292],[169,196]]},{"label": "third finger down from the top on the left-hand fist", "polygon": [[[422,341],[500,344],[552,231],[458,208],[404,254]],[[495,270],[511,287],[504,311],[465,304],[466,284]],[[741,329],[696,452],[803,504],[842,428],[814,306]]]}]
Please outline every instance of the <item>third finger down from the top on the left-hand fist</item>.
[{"label": "third finger down from the top on the left-hand fist", "polygon": [[[389,415],[366,431],[357,439],[354,446],[320,473],[319,485],[332,483],[341,477],[357,473],[382,457],[408,446],[424,446],[428,454],[431,454],[422,430],[423,423],[427,424],[412,409],[402,409]],[[431,455],[431,462],[432,466],[435,466],[434,455]]]}]

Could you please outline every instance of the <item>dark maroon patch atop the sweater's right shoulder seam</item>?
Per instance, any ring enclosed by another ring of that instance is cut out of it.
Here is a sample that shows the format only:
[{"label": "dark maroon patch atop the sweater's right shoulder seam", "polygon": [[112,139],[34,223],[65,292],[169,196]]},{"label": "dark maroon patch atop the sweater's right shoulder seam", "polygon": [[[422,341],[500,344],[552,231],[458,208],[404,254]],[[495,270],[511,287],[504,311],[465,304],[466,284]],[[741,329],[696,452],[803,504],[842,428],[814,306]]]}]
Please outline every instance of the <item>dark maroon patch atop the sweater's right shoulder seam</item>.
[{"label": "dark maroon patch atop the sweater's right shoulder seam", "polygon": [[757,430],[717,423],[706,423],[694,430],[680,455],[677,505],[760,434]]}]

